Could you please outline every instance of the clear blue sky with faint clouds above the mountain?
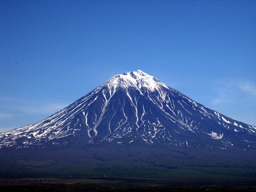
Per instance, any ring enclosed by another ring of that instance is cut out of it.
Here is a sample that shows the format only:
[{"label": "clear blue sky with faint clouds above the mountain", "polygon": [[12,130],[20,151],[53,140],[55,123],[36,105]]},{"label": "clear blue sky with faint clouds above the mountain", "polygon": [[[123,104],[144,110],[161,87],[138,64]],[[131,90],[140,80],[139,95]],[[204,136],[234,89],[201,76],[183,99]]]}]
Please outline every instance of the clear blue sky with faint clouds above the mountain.
[{"label": "clear blue sky with faint clouds above the mountain", "polygon": [[256,1],[0,1],[1,132],[143,70],[256,125]]}]

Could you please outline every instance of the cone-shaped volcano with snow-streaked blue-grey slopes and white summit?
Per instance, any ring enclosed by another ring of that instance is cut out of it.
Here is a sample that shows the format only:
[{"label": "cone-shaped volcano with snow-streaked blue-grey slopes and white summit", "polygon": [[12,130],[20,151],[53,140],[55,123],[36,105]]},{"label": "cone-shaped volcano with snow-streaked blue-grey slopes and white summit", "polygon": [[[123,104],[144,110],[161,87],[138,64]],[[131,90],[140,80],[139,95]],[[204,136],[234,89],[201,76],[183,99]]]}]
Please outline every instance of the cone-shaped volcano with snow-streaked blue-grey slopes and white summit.
[{"label": "cone-shaped volcano with snow-streaked blue-grey slopes and white summit", "polygon": [[0,134],[0,148],[97,143],[251,148],[256,127],[189,99],[141,70],[107,82],[48,118]]}]

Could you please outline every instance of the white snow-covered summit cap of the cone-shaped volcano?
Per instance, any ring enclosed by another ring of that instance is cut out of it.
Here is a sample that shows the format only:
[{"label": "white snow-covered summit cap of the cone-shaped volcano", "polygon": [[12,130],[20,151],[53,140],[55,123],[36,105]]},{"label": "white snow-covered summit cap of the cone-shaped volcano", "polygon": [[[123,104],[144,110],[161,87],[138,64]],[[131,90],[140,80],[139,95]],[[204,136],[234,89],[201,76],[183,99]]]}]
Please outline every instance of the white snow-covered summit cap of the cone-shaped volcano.
[{"label": "white snow-covered summit cap of the cone-shaped volcano", "polygon": [[137,90],[141,88],[146,88],[153,92],[154,90],[159,90],[161,87],[169,89],[166,84],[163,84],[154,76],[150,76],[142,70],[125,72],[123,74],[115,75],[111,77],[106,83],[109,88],[116,89],[117,87],[122,87],[127,89],[128,87],[133,87]]}]

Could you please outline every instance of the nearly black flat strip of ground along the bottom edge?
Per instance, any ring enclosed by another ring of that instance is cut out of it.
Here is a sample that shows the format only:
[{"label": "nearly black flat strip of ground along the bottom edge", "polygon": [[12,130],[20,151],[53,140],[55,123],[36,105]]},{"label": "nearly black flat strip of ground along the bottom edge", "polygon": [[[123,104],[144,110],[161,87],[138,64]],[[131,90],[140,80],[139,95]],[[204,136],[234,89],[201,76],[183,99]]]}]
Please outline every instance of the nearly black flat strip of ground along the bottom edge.
[{"label": "nearly black flat strip of ground along the bottom edge", "polygon": [[201,183],[201,182],[173,182],[161,179],[141,178],[94,178],[94,179],[67,179],[67,178],[19,178],[0,179],[0,190],[37,191],[37,192],[82,192],[82,191],[138,191],[138,192],[255,192],[256,184],[248,183]]}]

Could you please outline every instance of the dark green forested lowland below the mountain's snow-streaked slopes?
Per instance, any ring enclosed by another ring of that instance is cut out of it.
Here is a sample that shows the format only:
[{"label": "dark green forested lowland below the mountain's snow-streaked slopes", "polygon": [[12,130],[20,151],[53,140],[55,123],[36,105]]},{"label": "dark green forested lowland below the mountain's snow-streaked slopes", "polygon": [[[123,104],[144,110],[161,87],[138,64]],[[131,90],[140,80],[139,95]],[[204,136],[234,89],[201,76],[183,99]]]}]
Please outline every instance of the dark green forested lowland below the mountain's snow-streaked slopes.
[{"label": "dark green forested lowland below the mountain's snow-streaked slopes", "polygon": [[[256,185],[256,151],[195,151],[165,145],[156,147],[135,144],[92,145],[79,149],[1,150],[0,177],[2,188],[6,187],[2,182],[4,179],[54,177],[65,180],[90,178],[97,184],[57,182],[41,183],[40,187],[53,185],[52,189],[61,187],[62,191],[72,191],[73,187],[79,191],[79,187],[91,190],[99,186],[100,190],[106,191],[113,187],[113,190],[175,190],[175,187],[183,186],[188,191],[195,191],[207,185],[214,186],[214,189],[232,186],[238,190],[240,187],[249,190],[255,189],[253,186]],[[7,188],[15,188],[18,184],[8,185]]]}]

